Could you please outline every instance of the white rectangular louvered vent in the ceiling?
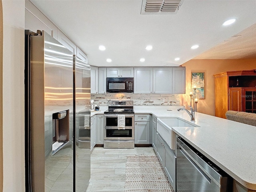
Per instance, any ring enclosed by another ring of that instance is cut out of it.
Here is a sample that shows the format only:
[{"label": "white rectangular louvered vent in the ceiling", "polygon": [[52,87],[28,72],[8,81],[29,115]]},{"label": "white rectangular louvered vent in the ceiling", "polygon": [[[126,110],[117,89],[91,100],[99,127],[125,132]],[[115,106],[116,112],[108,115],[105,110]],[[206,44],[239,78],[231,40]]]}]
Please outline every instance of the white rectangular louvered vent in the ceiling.
[{"label": "white rectangular louvered vent in the ceiling", "polygon": [[183,0],[142,0],[140,14],[176,14]]}]

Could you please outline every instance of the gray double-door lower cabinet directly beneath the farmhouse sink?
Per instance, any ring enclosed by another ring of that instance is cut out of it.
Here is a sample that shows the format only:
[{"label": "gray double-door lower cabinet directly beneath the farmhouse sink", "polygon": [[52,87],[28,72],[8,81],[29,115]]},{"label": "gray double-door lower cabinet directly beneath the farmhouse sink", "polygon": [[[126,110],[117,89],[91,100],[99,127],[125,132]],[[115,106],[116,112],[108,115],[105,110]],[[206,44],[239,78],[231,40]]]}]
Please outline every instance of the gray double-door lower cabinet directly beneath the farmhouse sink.
[{"label": "gray double-door lower cabinet directly beneath the farmhouse sink", "polygon": [[156,154],[170,184],[176,191],[176,156],[158,132],[156,132]]}]

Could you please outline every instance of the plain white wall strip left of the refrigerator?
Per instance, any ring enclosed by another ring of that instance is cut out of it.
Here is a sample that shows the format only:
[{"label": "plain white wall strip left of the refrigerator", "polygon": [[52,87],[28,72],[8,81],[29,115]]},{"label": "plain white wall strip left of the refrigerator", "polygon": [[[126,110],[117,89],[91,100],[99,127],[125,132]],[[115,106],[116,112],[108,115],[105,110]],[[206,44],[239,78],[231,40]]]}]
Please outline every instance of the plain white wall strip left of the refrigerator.
[{"label": "plain white wall strip left of the refrigerator", "polygon": [[25,1],[3,6],[3,192],[24,192]]}]

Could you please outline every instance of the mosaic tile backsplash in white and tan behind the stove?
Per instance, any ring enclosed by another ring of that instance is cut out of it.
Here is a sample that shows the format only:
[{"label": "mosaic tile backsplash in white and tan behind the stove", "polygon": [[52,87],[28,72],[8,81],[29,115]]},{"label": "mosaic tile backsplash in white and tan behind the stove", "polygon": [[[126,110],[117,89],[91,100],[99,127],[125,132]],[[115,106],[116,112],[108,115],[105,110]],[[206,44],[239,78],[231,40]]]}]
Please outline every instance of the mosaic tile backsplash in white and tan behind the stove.
[{"label": "mosaic tile backsplash in white and tan behind the stove", "polygon": [[91,94],[98,106],[108,106],[109,100],[133,100],[135,106],[180,106],[179,94],[133,94],[107,93]]}]

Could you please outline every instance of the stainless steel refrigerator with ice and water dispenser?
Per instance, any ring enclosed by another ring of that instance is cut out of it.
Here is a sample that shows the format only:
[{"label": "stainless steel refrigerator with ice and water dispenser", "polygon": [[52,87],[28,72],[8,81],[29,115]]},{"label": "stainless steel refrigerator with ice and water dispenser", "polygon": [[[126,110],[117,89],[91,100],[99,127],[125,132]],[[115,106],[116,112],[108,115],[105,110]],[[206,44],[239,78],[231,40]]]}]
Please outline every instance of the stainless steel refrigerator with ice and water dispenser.
[{"label": "stainless steel refrigerator with ice and water dispenser", "polygon": [[25,30],[25,98],[26,191],[85,191],[90,66],[46,32]]}]

